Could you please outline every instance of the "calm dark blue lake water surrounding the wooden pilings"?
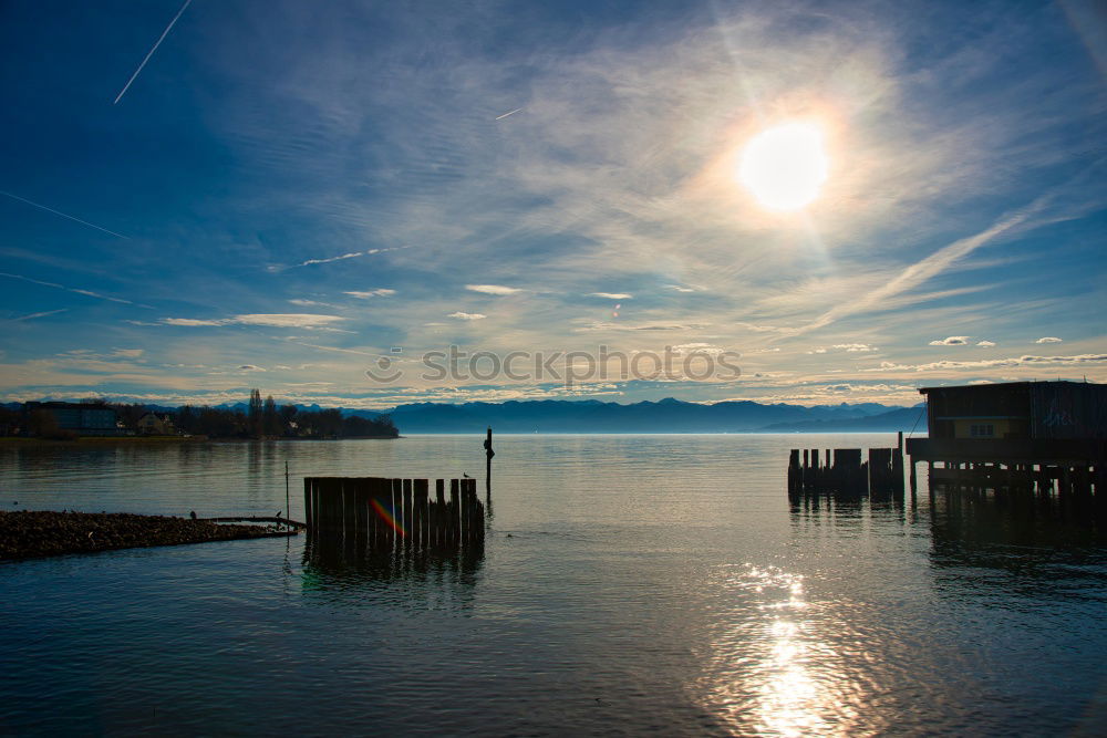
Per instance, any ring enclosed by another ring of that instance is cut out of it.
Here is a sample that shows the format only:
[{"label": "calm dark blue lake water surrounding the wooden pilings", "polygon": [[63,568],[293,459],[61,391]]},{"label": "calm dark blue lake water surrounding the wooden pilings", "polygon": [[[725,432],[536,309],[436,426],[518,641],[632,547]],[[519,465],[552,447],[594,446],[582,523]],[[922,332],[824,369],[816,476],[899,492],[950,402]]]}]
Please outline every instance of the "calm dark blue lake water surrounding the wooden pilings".
[{"label": "calm dark blue lake water surrounding the wooden pilings", "polygon": [[[287,460],[302,519],[303,476],[483,478],[480,441],[0,449],[0,505],[272,514]],[[892,444],[503,436],[483,552],[0,564],[0,734],[1104,735],[1103,528],[924,472],[789,505],[789,448]]]}]

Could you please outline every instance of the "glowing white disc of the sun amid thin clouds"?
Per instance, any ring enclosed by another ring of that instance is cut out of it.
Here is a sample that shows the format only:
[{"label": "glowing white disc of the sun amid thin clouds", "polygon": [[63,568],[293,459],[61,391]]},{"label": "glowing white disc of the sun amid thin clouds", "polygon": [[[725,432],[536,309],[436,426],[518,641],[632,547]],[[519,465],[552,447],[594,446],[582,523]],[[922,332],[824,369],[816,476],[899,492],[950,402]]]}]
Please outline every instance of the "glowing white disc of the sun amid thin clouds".
[{"label": "glowing white disc of the sun amid thin clouds", "polygon": [[819,127],[785,123],[746,144],[737,179],[764,207],[798,210],[818,197],[828,168]]}]

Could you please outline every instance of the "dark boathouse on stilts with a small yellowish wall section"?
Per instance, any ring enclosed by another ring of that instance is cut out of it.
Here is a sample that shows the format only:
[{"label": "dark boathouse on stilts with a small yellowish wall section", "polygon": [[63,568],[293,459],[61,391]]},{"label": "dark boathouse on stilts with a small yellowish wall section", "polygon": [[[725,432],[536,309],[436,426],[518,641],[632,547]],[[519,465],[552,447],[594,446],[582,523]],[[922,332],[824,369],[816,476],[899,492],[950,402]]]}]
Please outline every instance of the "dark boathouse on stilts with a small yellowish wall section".
[{"label": "dark boathouse on stilts with a small yellowish wall section", "polygon": [[932,481],[1052,487],[1058,480],[1065,489],[1103,480],[1107,385],[1006,382],[919,392],[929,437],[907,441],[912,478],[914,464],[925,461]]}]

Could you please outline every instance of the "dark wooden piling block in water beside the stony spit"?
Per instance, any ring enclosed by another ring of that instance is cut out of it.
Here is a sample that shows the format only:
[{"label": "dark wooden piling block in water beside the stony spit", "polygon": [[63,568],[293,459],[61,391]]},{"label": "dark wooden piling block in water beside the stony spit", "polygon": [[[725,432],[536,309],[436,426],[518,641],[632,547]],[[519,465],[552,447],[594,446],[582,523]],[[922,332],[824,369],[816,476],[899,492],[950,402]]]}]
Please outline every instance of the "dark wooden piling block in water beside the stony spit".
[{"label": "dark wooden piling block in water beside the stony spit", "polygon": [[[448,499],[447,495],[448,481]],[[356,537],[371,548],[449,548],[484,540],[476,479],[306,477],[309,534]]]}]

